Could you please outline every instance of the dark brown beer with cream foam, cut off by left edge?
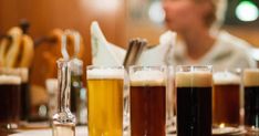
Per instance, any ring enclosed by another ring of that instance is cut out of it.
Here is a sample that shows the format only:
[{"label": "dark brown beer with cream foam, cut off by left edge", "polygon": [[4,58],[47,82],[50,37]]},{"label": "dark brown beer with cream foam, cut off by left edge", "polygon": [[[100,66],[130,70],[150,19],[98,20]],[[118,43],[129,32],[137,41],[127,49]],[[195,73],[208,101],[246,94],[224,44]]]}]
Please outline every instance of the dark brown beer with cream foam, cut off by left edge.
[{"label": "dark brown beer with cream foam, cut off by left edge", "polygon": [[20,117],[21,79],[13,75],[0,75],[0,125],[15,125]]}]

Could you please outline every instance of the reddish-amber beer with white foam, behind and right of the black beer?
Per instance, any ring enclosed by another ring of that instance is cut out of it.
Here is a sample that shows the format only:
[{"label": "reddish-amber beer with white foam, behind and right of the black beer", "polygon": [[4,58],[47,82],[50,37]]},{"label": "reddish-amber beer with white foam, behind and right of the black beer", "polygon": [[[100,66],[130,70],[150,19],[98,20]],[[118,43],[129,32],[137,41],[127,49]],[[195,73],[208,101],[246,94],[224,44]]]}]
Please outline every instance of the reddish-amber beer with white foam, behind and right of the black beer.
[{"label": "reddish-amber beer with white foam, behind and right of the black beer", "polygon": [[214,125],[238,126],[240,108],[240,77],[231,72],[214,74]]}]

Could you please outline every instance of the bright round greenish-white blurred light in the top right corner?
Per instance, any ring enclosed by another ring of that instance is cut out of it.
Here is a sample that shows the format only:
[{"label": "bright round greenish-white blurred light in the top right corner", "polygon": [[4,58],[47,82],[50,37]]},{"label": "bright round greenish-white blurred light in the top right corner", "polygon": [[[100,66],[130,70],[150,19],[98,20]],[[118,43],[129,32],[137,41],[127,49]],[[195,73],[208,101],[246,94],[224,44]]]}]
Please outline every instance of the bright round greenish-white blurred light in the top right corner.
[{"label": "bright round greenish-white blurred light in the top right corner", "polygon": [[258,12],[257,6],[251,1],[240,2],[236,9],[237,18],[245,22],[256,21],[259,15]]}]

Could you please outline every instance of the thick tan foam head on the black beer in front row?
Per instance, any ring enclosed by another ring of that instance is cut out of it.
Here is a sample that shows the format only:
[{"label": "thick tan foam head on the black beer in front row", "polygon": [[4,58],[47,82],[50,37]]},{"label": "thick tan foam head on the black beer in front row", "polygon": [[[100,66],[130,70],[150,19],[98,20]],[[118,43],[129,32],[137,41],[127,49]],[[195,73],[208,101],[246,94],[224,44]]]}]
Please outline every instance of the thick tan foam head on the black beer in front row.
[{"label": "thick tan foam head on the black beer in front row", "polygon": [[177,72],[177,87],[208,87],[213,85],[213,74],[210,72]]}]

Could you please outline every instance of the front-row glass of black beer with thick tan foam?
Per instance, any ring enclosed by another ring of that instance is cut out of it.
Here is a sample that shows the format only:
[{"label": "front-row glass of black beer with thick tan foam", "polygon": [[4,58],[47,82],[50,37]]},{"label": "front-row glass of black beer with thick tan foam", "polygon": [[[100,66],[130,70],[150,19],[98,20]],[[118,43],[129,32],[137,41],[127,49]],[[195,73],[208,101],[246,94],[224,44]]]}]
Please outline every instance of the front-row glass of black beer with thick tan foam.
[{"label": "front-row glass of black beer with thick tan foam", "polygon": [[178,136],[211,136],[213,66],[176,67]]}]

